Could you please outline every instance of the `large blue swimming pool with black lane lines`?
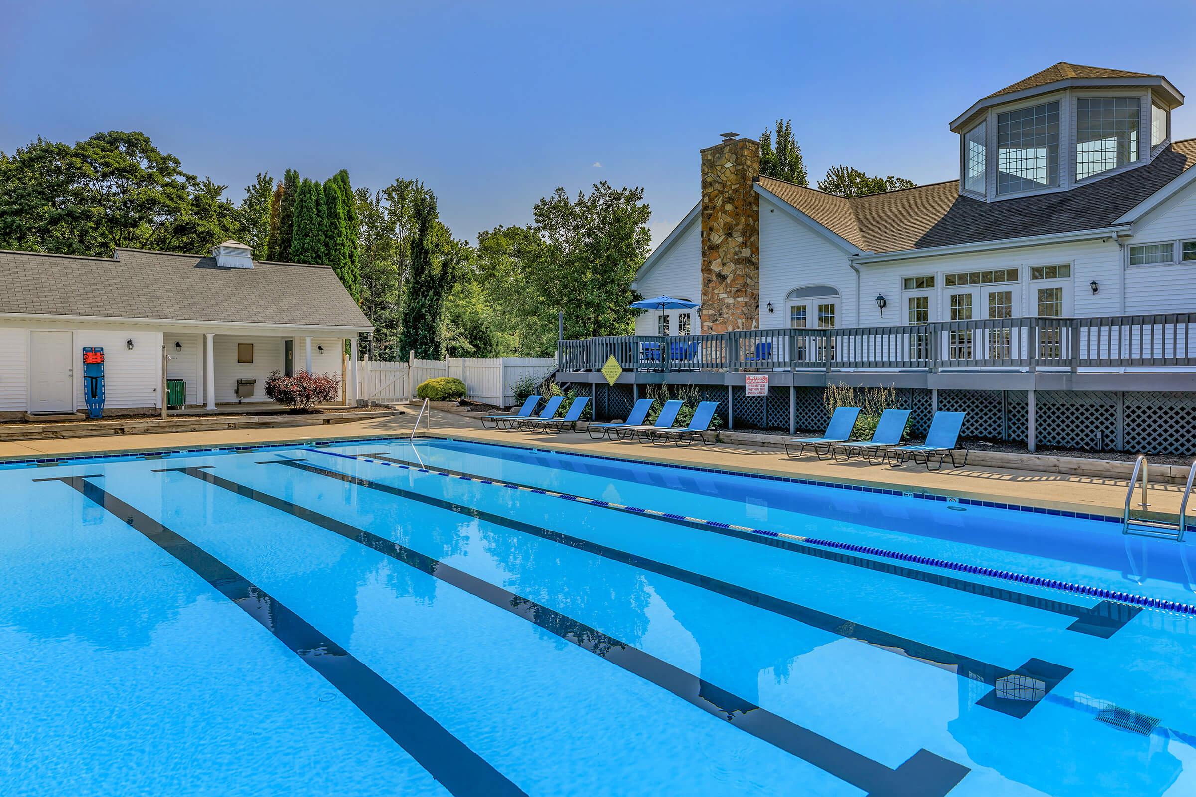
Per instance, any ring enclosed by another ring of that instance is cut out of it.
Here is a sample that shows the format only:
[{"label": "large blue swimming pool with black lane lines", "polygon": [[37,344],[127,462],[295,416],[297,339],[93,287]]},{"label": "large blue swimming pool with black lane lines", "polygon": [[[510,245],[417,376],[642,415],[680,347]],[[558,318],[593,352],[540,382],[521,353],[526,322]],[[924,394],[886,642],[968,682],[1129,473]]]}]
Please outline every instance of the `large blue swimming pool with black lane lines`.
[{"label": "large blue swimming pool with black lane lines", "polygon": [[6,795],[1196,792],[1190,545],[1102,519],[448,440],[0,495]]}]

